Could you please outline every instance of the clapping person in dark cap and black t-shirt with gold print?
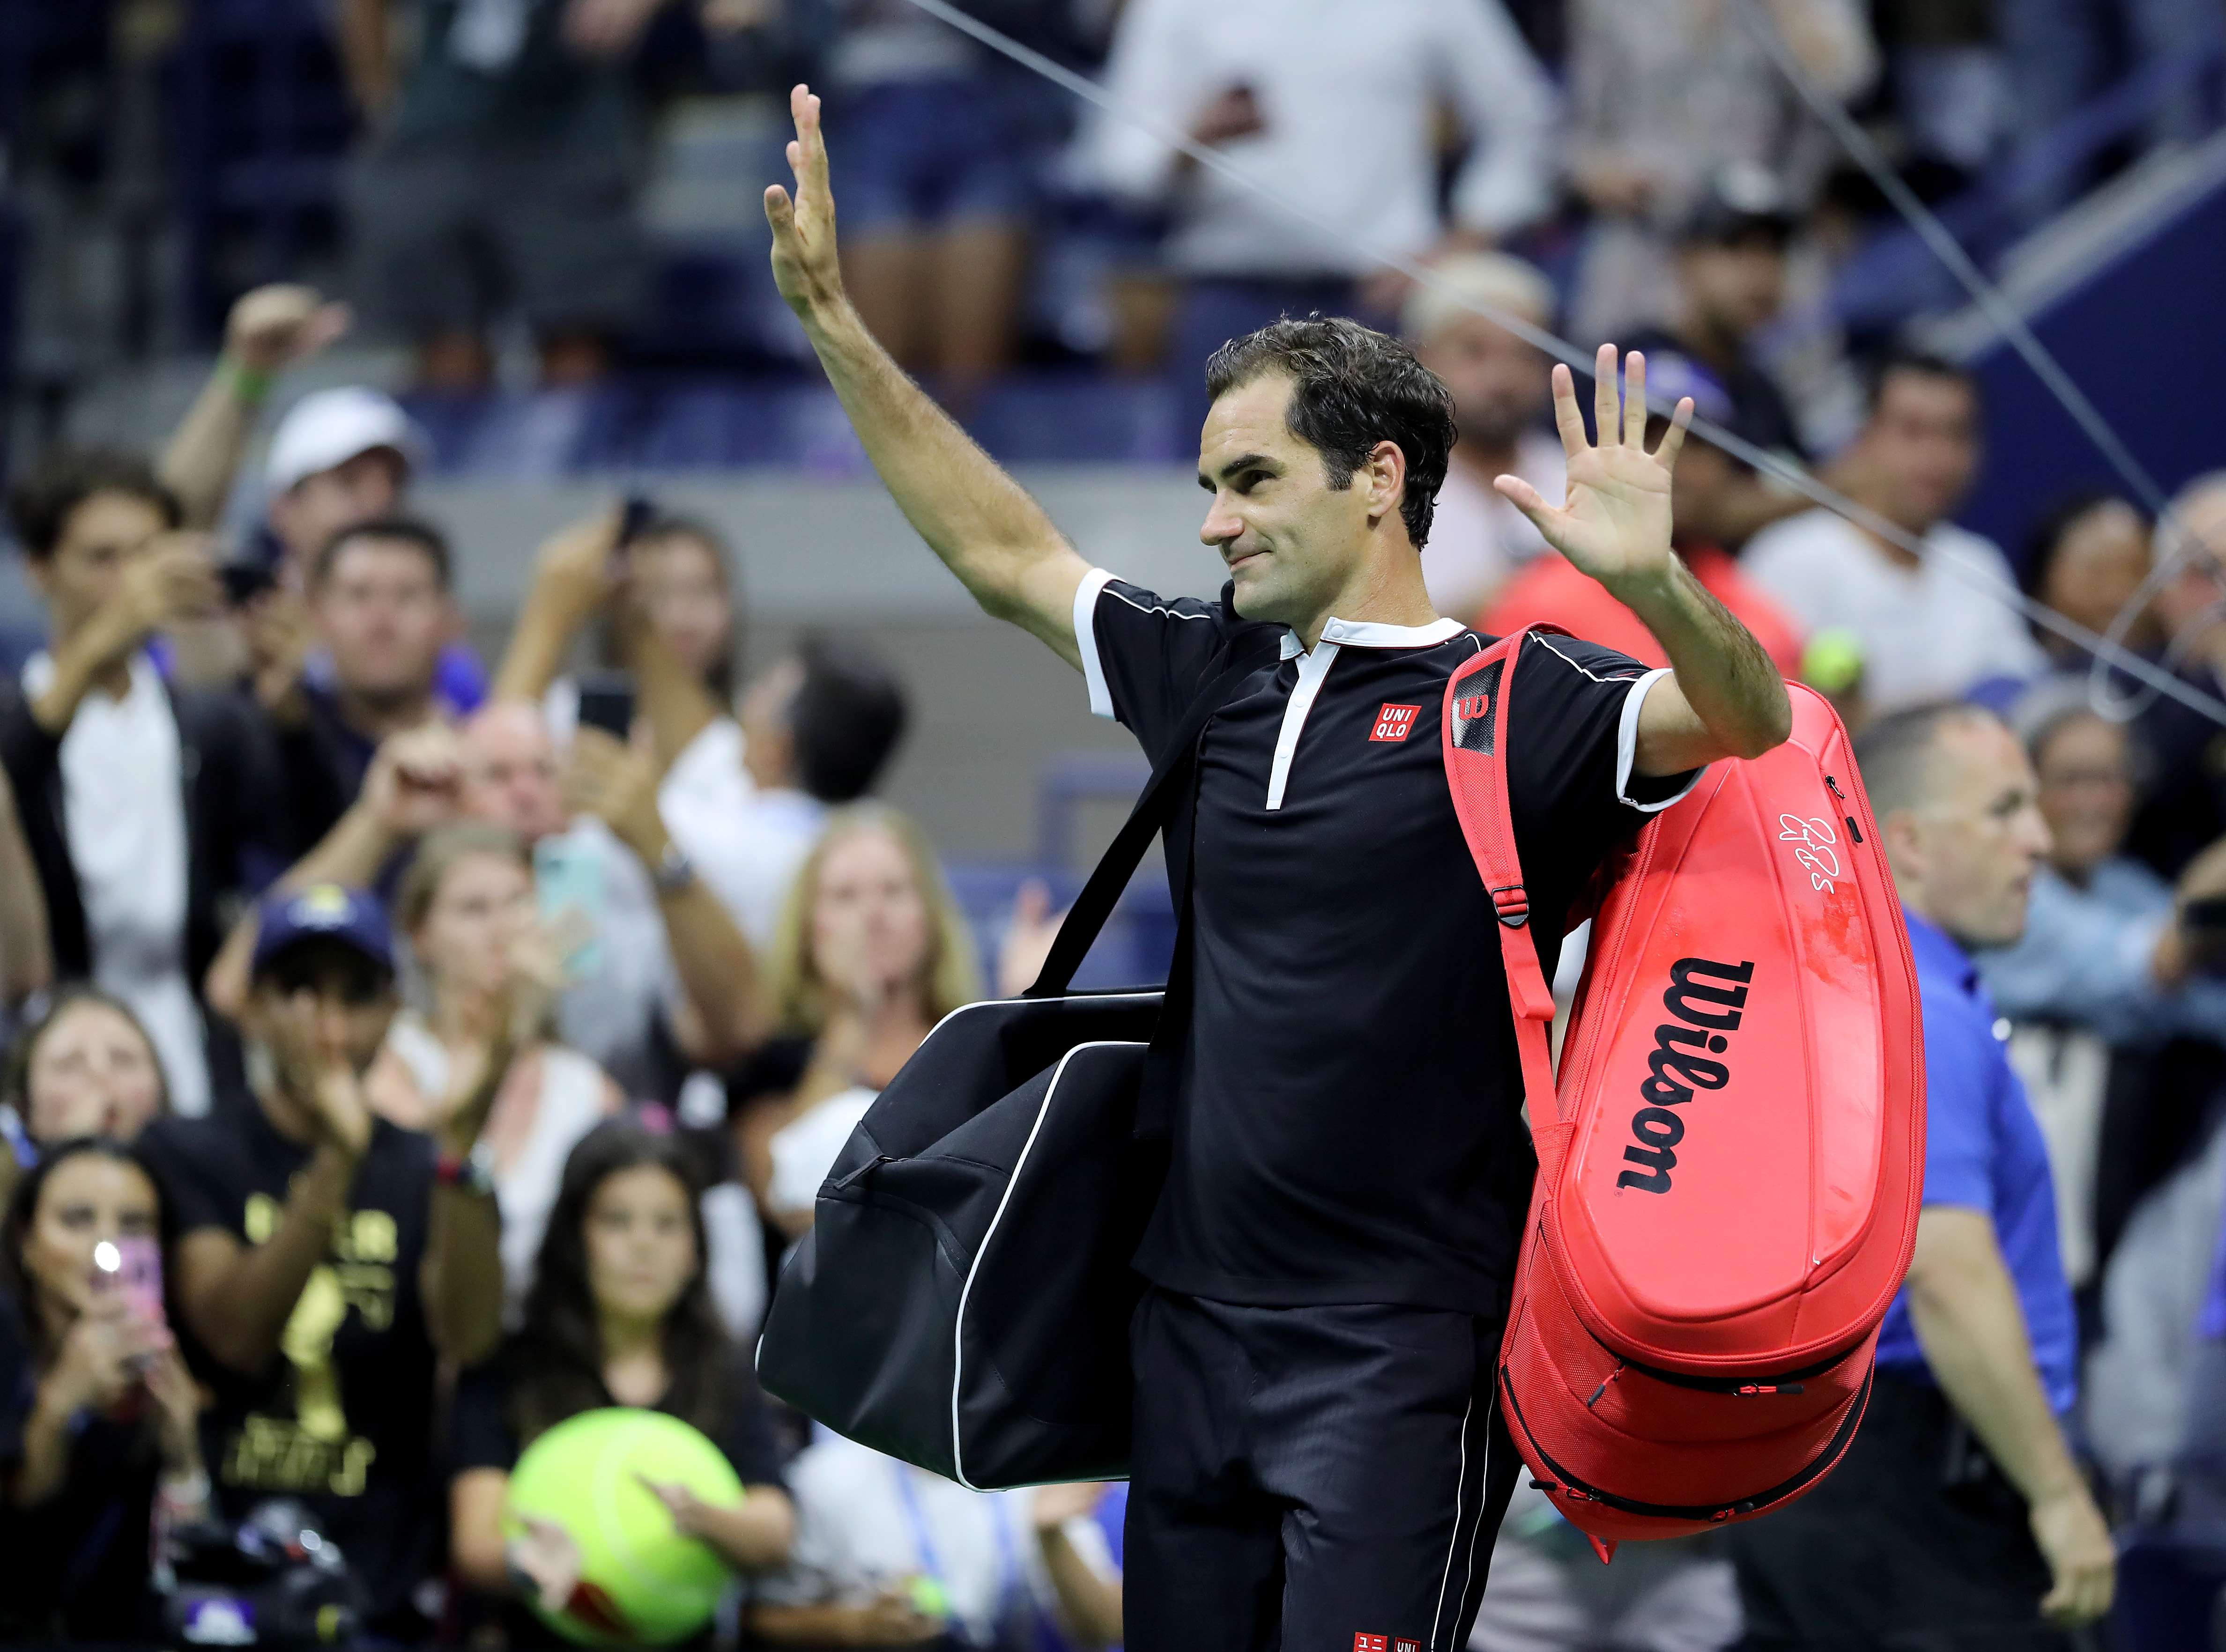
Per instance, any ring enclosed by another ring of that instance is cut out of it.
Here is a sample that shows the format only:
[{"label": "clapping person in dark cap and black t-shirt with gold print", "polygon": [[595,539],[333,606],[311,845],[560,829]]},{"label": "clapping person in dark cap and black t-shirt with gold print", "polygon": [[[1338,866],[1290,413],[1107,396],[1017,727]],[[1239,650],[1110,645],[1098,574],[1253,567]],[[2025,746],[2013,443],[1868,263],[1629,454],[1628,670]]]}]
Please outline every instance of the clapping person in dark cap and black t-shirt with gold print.
[{"label": "clapping person in dark cap and black t-shirt with gold print", "polygon": [[499,1213],[472,1158],[508,1029],[432,1133],[381,1120],[365,1073],[394,1020],[385,913],[314,884],[263,902],[243,1026],[249,1093],[140,1138],[162,1189],[180,1331],[214,1403],[225,1518],[294,1498],[365,1596],[365,1632],[425,1632],[436,1567],[436,1358],[501,1338]]}]

